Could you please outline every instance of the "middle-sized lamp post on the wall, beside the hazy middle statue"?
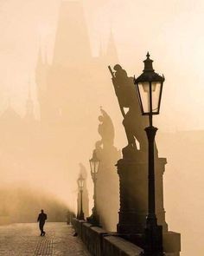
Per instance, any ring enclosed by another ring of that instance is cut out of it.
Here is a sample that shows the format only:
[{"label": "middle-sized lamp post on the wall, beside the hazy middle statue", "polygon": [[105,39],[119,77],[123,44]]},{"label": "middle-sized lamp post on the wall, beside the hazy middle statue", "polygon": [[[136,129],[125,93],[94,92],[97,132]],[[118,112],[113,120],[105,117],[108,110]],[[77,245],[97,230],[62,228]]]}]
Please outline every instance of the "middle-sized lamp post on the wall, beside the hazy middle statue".
[{"label": "middle-sized lamp post on the wall, beside the hazy middle statue", "polygon": [[88,218],[88,221],[94,225],[99,225],[99,214],[97,209],[97,198],[96,198],[96,181],[97,181],[97,174],[99,171],[100,161],[97,158],[96,150],[93,150],[92,159],[90,159],[89,162],[90,162],[92,181],[93,181],[93,208],[92,208],[92,216]]}]

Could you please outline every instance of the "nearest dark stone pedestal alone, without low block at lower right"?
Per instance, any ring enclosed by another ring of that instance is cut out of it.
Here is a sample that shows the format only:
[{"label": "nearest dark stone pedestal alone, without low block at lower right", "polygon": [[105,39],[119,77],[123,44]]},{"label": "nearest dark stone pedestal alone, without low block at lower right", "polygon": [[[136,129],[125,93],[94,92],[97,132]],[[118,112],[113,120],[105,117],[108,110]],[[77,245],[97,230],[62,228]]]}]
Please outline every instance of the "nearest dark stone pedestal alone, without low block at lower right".
[{"label": "nearest dark stone pedestal alone, without low block at lower right", "polygon": [[[163,231],[168,230],[163,208],[163,173],[165,158],[156,160],[156,217]],[[148,211],[148,164],[138,152],[134,159],[118,161],[120,210],[118,233],[143,233]]]}]

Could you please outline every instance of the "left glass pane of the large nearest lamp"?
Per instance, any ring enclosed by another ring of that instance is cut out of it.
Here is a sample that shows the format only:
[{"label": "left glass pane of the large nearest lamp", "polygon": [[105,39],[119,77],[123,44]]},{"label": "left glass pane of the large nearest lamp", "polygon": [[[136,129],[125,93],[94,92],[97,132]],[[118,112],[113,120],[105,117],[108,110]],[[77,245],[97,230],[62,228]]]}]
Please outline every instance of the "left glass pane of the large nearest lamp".
[{"label": "left glass pane of the large nearest lamp", "polygon": [[137,87],[143,113],[150,113],[150,82],[138,82]]}]

